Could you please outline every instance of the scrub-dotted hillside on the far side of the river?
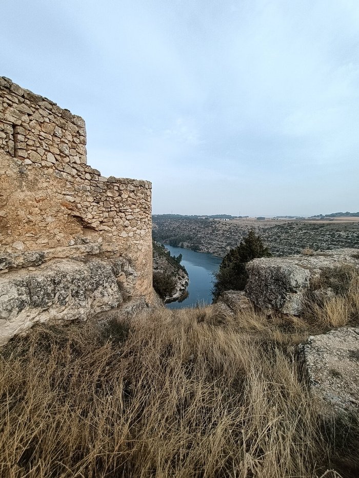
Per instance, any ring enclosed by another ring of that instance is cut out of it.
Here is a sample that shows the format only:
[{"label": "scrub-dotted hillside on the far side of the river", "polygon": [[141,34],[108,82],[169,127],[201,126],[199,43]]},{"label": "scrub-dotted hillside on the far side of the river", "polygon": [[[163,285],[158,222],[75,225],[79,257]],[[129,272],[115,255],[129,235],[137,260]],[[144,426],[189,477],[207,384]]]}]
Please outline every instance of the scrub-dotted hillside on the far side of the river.
[{"label": "scrub-dotted hillside on the far side of the river", "polygon": [[216,220],[153,217],[153,238],[158,242],[187,247],[224,257],[238,245],[249,229],[260,234],[273,255],[359,247],[359,222]]}]

